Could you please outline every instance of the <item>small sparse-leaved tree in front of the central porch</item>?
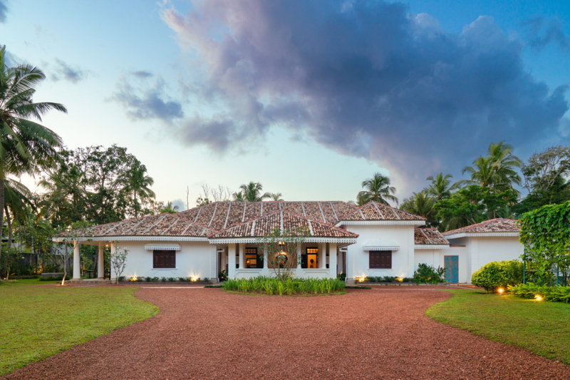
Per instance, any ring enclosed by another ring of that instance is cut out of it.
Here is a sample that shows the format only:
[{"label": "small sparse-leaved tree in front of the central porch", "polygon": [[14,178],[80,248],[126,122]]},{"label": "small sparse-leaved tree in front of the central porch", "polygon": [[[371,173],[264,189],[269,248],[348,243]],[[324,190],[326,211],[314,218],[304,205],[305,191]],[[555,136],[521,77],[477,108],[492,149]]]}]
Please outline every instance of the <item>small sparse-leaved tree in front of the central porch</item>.
[{"label": "small sparse-leaved tree in front of the central porch", "polygon": [[297,255],[297,249],[307,237],[309,237],[307,227],[296,227],[290,230],[276,228],[257,240],[263,257],[267,258],[269,267],[281,281],[293,277],[293,269],[301,266],[301,256]]}]

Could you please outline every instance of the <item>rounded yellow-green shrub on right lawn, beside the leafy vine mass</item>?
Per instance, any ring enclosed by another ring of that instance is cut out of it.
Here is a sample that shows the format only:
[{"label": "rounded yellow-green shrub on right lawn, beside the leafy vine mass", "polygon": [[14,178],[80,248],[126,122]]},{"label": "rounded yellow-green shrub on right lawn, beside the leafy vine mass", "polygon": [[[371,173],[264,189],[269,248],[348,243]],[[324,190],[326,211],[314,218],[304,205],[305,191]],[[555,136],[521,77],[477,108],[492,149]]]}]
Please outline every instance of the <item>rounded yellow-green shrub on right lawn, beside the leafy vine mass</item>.
[{"label": "rounded yellow-green shrub on right lawn, beside the leafy vine mass", "polygon": [[522,282],[523,264],[518,260],[494,261],[483,265],[471,276],[471,283],[493,292],[499,287],[505,289],[509,285]]}]

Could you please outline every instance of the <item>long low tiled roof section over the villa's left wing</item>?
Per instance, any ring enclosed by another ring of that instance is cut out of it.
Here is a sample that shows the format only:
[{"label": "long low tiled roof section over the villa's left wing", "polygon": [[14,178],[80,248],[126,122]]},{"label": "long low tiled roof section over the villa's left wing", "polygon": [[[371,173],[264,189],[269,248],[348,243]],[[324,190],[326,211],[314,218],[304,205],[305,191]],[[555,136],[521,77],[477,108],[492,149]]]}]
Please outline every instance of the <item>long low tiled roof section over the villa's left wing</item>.
[{"label": "long low tiled roof section over the villa's left wing", "polygon": [[[195,222],[184,220],[175,214],[160,214],[120,222],[107,223],[89,227],[82,233],[83,237],[132,237],[132,236],[165,236],[165,237],[204,237],[216,232],[211,228]],[[68,237],[72,232],[62,232],[58,237]]]}]

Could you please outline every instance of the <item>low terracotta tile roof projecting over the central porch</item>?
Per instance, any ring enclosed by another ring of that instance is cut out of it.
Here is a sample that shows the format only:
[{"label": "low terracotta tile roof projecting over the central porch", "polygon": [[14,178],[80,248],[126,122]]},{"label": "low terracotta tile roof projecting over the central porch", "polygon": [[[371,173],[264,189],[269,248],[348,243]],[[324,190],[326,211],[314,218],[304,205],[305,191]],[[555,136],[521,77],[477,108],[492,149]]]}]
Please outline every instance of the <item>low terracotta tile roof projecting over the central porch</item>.
[{"label": "low terracotta tile roof projecting over the central porch", "polygon": [[335,227],[326,222],[297,215],[287,210],[277,210],[271,214],[257,217],[239,225],[234,225],[209,237],[212,239],[228,237],[263,237],[276,228],[309,228],[311,237],[358,237],[353,232]]}]

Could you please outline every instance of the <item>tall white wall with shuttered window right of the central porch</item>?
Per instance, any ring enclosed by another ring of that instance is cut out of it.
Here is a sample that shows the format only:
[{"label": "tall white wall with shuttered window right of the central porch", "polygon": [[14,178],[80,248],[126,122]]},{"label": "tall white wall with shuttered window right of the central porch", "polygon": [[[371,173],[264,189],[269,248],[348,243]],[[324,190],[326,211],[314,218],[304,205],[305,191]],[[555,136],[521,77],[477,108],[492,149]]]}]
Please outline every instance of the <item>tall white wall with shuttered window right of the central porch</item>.
[{"label": "tall white wall with shuttered window right of the central porch", "polygon": [[[355,244],[346,252],[346,279],[362,276],[412,277],[414,272],[413,225],[346,225],[346,230],[358,234]],[[368,251],[363,246],[369,240],[392,240],[400,249],[392,252],[392,269],[369,269]]]}]

